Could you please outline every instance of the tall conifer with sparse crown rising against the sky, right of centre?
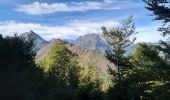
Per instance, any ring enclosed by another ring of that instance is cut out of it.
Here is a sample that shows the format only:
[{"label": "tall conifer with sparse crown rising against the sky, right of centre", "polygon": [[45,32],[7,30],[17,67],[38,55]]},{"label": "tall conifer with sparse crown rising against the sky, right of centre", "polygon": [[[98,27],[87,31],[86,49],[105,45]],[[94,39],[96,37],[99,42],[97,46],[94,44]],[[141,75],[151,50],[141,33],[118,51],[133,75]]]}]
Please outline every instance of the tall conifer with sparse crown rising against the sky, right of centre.
[{"label": "tall conifer with sparse crown rising against the sky, right of centre", "polygon": [[128,57],[126,57],[125,49],[129,47],[136,38],[130,40],[130,37],[137,32],[135,32],[135,25],[133,23],[132,17],[127,20],[123,20],[121,26],[114,27],[112,29],[107,29],[102,27],[103,35],[107,42],[112,46],[112,51],[106,51],[106,57],[115,64],[117,70],[110,72],[114,75],[114,82],[117,84],[117,99],[123,100],[124,90],[121,88],[122,78],[124,70],[129,66]]}]

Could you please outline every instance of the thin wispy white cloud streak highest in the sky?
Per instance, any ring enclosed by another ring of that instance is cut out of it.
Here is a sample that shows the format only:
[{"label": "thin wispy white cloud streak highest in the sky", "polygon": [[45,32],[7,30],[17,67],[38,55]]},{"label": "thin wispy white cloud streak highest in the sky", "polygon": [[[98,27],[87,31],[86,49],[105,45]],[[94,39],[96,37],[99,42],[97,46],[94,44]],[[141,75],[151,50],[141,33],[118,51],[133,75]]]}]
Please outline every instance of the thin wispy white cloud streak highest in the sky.
[{"label": "thin wispy white cloud streak highest in the sky", "polygon": [[104,0],[103,2],[83,1],[70,3],[40,3],[19,5],[15,10],[31,15],[49,14],[56,12],[88,11],[100,9],[126,9],[141,7],[140,3],[133,3],[130,0]]}]

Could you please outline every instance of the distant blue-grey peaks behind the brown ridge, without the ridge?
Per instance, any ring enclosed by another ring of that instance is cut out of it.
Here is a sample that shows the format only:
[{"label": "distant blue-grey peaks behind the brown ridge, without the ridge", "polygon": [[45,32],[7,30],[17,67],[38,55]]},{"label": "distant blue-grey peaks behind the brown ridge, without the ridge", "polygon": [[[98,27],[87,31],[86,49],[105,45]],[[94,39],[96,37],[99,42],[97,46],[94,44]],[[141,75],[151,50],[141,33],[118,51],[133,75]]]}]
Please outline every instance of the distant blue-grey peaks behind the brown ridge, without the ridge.
[{"label": "distant blue-grey peaks behind the brown ridge, without the ridge", "polygon": [[[42,37],[40,37],[37,33],[33,32],[32,30],[29,32],[25,32],[21,35],[22,38],[29,39],[33,38],[35,40],[35,46],[33,50],[35,52],[38,52],[42,47],[49,44],[55,39],[52,39],[50,41],[44,40]],[[107,41],[104,39],[104,37],[101,34],[86,34],[84,36],[80,36],[76,40],[63,40],[67,41],[68,43],[72,43],[76,46],[79,46],[81,48],[86,48],[93,50],[98,53],[105,53],[105,50],[111,49],[111,46],[107,43]],[[130,47],[126,49],[126,55],[132,54],[138,44],[133,44]]]}]

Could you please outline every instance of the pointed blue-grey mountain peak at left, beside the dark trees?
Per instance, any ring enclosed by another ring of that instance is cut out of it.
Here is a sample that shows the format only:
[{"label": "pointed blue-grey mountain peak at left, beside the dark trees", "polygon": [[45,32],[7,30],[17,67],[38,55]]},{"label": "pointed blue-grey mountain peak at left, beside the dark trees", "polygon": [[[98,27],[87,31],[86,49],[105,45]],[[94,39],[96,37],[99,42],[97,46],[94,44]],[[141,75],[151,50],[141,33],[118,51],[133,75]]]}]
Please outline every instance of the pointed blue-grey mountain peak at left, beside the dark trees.
[{"label": "pointed blue-grey mountain peak at left, beside the dark trees", "polygon": [[44,47],[45,45],[48,44],[48,41],[44,40],[42,37],[40,37],[38,34],[33,32],[32,30],[21,34],[20,37],[22,37],[26,40],[28,40],[29,38],[34,39],[35,46],[34,46],[33,50],[35,52],[38,52],[42,47]]}]

